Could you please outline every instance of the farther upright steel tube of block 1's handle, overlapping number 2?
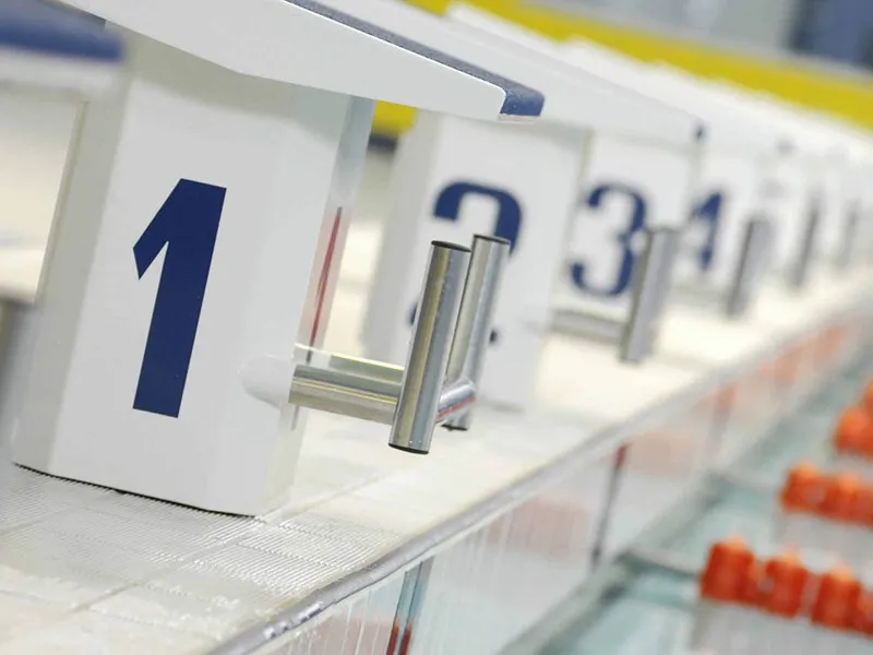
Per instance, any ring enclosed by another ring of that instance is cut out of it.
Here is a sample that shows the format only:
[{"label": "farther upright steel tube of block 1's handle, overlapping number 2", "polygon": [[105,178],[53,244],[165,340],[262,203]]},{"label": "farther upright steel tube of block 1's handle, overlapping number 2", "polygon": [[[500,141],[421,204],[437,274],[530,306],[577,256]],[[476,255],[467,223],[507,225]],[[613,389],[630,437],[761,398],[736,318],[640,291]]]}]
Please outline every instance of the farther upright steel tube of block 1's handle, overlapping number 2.
[{"label": "farther upright steel tube of block 1's handle, overlapping number 2", "polygon": [[[498,289],[510,254],[510,242],[498,237],[476,235],[457,314],[457,325],[449,355],[447,382],[466,379],[477,386],[482,377]],[[450,421],[450,427],[466,430],[473,420],[468,409]]]}]

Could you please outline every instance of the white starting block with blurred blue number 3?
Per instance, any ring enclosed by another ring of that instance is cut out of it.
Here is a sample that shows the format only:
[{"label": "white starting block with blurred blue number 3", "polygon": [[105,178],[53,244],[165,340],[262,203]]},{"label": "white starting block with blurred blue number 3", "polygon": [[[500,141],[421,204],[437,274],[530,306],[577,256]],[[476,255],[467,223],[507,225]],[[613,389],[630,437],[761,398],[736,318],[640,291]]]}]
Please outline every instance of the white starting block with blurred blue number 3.
[{"label": "white starting block with blurred blue number 3", "polygon": [[[598,71],[701,119],[699,139],[684,147],[629,134],[601,133],[593,140],[559,294],[574,307],[622,315],[627,311],[633,269],[639,258],[637,235],[646,228],[684,230],[704,148],[714,128],[721,132],[723,126],[707,120],[685,98],[649,84],[636,62],[582,41],[569,41],[561,52],[583,70]],[[648,117],[641,111],[641,119]],[[725,139],[720,133],[715,138]]]}]

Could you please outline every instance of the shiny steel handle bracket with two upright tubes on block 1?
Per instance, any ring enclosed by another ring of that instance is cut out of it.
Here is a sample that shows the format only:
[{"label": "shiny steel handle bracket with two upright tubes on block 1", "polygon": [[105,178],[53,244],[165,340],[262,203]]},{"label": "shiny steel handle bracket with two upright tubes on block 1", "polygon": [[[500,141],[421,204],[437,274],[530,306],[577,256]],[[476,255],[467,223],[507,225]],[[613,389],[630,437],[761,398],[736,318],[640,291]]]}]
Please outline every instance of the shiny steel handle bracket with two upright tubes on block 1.
[{"label": "shiny steel handle bracket with two upright tubes on block 1", "polygon": [[509,250],[495,237],[434,241],[406,366],[301,348],[288,402],[391,425],[388,445],[410,453],[430,451],[436,425],[467,429]]}]

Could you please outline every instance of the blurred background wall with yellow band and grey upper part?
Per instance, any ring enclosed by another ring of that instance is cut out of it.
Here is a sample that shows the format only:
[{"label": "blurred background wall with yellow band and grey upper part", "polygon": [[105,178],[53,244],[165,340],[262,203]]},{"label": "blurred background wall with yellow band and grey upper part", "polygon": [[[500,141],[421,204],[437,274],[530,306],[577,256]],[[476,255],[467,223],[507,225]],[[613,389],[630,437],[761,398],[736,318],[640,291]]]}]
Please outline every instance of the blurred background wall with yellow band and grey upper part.
[{"label": "blurred background wall with yellow band and grey upper part", "polygon": [[[398,0],[441,12],[450,0]],[[558,39],[725,79],[873,129],[873,0],[466,0]],[[414,114],[383,105],[388,140]]]}]

